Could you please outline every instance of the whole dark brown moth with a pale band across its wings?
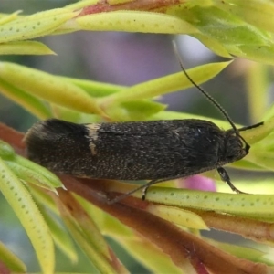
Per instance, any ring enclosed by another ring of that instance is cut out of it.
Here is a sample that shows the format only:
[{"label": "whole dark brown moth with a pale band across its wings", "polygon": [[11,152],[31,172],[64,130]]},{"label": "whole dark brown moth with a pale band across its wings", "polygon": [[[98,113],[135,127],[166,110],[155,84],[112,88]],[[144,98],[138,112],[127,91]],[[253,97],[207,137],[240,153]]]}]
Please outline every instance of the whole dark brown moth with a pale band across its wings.
[{"label": "whole dark brown moth with a pale band across its wings", "polygon": [[262,123],[237,129],[227,112],[189,78],[182,64],[181,67],[186,77],[224,114],[231,124],[230,130],[223,131],[211,121],[196,119],[90,124],[50,119],[38,121],[26,133],[28,158],[57,174],[150,180],[134,190],[142,188],[143,199],[152,184],[213,169],[233,191],[240,193],[223,165],[248,154],[248,142],[239,132]]}]

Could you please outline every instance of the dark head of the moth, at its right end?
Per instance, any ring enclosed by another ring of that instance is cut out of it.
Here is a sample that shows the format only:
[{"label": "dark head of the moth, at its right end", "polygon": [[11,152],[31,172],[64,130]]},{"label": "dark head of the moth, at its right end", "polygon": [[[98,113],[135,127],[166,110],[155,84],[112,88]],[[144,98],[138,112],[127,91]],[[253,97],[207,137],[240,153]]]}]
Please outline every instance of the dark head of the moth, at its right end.
[{"label": "dark head of the moth, at its right end", "polygon": [[239,132],[228,130],[225,133],[221,162],[232,163],[240,160],[248,154],[249,148],[248,143],[239,135]]}]

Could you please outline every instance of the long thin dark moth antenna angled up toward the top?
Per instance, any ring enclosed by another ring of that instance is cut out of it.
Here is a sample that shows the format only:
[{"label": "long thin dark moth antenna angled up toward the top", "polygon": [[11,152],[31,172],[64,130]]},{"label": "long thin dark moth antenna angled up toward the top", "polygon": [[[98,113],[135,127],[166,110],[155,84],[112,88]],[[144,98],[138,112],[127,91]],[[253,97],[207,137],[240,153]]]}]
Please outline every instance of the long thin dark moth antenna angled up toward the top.
[{"label": "long thin dark moth antenna angled up toward the top", "polygon": [[183,60],[178,52],[178,47],[175,43],[175,41],[173,40],[173,46],[174,46],[174,52],[175,52],[175,55],[177,56],[178,58],[178,61],[179,61],[179,64],[180,64],[180,67],[182,68],[183,72],[184,72],[184,75],[186,76],[187,79],[189,79],[189,81],[195,86],[195,88],[197,88],[198,90],[200,90],[204,96],[210,100],[216,107],[216,109],[218,111],[220,111],[223,116],[227,119],[227,121],[230,123],[232,129],[234,130],[234,132],[237,134],[237,136],[239,136],[239,138],[241,138],[241,140],[245,143],[246,145],[246,150],[248,151],[249,149],[249,144],[248,142],[239,134],[238,130],[237,130],[237,127],[235,125],[235,123],[232,121],[232,119],[229,117],[227,111],[210,95],[208,94],[201,86],[199,86],[198,84],[195,83],[195,81],[193,79],[191,79],[191,77],[189,76],[189,74],[186,72],[186,69],[184,68],[184,65],[183,65]]}]

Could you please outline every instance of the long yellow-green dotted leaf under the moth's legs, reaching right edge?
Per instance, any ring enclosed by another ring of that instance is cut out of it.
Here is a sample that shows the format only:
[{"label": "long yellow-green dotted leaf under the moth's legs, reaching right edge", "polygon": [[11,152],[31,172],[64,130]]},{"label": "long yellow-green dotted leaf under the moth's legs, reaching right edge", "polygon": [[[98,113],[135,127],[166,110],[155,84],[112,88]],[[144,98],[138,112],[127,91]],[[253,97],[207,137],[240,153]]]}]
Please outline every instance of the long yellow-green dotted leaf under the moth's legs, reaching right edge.
[{"label": "long yellow-green dotted leaf under the moth's legs, reaching right edge", "polygon": [[[140,192],[134,196],[142,195]],[[163,205],[213,210],[240,216],[274,216],[274,195],[235,195],[153,186],[148,189],[146,199]]]}]

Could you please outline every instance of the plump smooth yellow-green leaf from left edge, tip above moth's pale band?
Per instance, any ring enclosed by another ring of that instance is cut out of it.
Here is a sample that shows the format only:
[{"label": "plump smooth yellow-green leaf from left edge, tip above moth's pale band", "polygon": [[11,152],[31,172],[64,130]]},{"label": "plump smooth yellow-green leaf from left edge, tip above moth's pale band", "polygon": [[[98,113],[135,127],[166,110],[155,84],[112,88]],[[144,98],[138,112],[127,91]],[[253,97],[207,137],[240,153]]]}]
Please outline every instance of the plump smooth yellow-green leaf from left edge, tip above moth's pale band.
[{"label": "plump smooth yellow-green leaf from left edge, tip above moth's pale band", "polygon": [[0,78],[43,100],[86,113],[103,114],[84,90],[46,72],[12,63],[0,63]]}]

